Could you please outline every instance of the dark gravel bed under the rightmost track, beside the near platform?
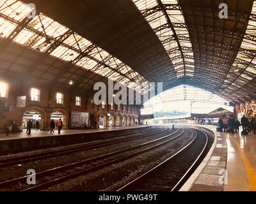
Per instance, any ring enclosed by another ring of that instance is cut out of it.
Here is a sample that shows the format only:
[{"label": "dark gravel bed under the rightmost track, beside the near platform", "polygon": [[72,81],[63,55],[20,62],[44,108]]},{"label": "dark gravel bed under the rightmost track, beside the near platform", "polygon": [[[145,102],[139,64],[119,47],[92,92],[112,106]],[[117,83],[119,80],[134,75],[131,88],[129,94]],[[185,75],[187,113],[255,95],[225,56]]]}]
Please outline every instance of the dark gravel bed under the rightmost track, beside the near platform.
[{"label": "dark gravel bed under the rightmost track, beside the near platform", "polygon": [[[204,159],[209,149],[211,149],[211,145],[214,141],[214,135],[211,134],[211,131],[208,132],[207,146],[197,164],[200,164]],[[137,180],[130,186],[125,187],[124,191],[171,191],[189,170],[205,146],[206,138],[204,133],[200,131],[197,131],[197,133],[198,136],[188,148],[168,160],[166,163],[161,165],[161,167],[148,173],[145,177]],[[193,167],[193,170],[195,169],[196,166]]]}]

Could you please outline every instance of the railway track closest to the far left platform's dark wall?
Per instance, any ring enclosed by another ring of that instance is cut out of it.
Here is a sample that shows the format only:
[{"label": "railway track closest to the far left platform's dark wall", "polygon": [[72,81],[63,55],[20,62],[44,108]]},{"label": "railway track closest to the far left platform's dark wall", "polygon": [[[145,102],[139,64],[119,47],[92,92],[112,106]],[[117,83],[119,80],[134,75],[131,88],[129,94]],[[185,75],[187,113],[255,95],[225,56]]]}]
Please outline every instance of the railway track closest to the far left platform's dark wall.
[{"label": "railway track closest to the far left platform's dark wall", "polygon": [[56,156],[63,156],[64,154],[72,154],[74,152],[90,150],[95,148],[104,147],[106,145],[113,145],[116,143],[128,142],[135,139],[145,138],[147,136],[152,136],[160,133],[164,133],[164,131],[168,131],[169,128],[152,128],[155,131],[151,131],[150,133],[136,133],[131,135],[118,136],[116,138],[107,139],[104,141],[98,141],[97,143],[83,143],[76,145],[76,147],[67,147],[65,149],[60,150],[51,150],[49,152],[42,152],[38,154],[31,154],[26,156],[19,156],[19,157],[11,157],[6,159],[0,159],[0,168],[14,165],[14,164],[22,164],[30,161],[36,161],[39,159],[46,159],[47,157],[56,157]]}]

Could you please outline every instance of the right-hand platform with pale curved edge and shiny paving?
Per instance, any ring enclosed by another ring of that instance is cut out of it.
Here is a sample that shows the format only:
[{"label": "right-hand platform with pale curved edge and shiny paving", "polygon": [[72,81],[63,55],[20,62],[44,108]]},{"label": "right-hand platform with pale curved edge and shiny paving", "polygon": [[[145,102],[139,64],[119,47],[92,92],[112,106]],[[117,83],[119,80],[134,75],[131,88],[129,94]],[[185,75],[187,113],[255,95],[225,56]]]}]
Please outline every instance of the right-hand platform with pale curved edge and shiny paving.
[{"label": "right-hand platform with pale curved edge and shiny paving", "polygon": [[256,135],[217,133],[204,161],[180,191],[256,191]]}]

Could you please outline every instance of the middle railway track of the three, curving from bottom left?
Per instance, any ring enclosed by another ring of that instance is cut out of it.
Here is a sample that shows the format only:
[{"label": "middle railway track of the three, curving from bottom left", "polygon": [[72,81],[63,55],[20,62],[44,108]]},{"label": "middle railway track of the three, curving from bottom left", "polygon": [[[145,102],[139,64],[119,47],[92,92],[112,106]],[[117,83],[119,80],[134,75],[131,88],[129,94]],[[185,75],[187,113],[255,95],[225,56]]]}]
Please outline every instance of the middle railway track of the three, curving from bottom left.
[{"label": "middle railway track of the three, curving from bottom left", "polygon": [[[177,135],[175,135],[176,133],[177,133]],[[57,179],[47,180],[46,182],[44,181],[44,182],[37,184],[35,186],[32,186],[32,187],[28,187],[26,185],[26,179],[28,178],[28,176],[25,176],[25,177],[19,177],[19,178],[15,178],[12,180],[8,180],[6,182],[1,182],[0,188],[3,189],[6,187],[8,188],[8,186],[24,184],[24,186],[21,189],[23,191],[40,191],[42,189],[46,189],[47,187],[51,187],[56,184],[65,182],[68,179],[74,179],[76,177],[79,177],[80,175],[85,175],[85,174],[91,173],[93,171],[100,170],[100,169],[102,169],[106,166],[109,166],[111,164],[125,161],[125,159],[132,158],[132,157],[137,156],[138,154],[141,154],[143,152],[147,152],[156,147],[160,147],[161,145],[164,145],[172,140],[175,140],[175,138],[178,138],[179,136],[181,136],[183,134],[184,134],[184,129],[180,128],[180,129],[177,129],[177,131],[175,131],[174,133],[168,134],[168,135],[158,138],[154,141],[142,143],[142,144],[136,145],[134,147],[111,152],[111,153],[93,157],[90,159],[84,159],[83,161],[79,161],[79,162],[72,163],[72,164],[67,164],[65,166],[59,166],[59,167],[52,168],[52,169],[49,169],[46,171],[38,172],[38,173],[36,173],[36,180],[38,180],[40,178],[42,179],[45,177],[51,177],[51,175],[53,175],[54,173],[60,173],[60,172],[63,173],[67,170],[74,170],[74,168],[76,168],[78,166],[83,167],[84,165],[86,165],[83,168],[83,170],[79,170],[74,173],[68,173],[67,175],[64,175]],[[149,147],[147,147],[147,146],[149,146]],[[145,147],[145,148],[143,148],[143,147]],[[136,150],[136,149],[139,149],[139,150]],[[134,151],[134,150],[136,150],[136,151]],[[95,163],[97,163],[97,164],[95,164]],[[91,164],[91,166],[88,167],[88,165],[90,165],[90,164]],[[19,189],[19,187],[18,187],[18,189]]]}]

